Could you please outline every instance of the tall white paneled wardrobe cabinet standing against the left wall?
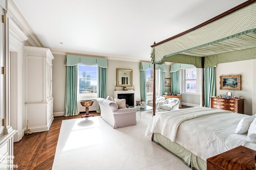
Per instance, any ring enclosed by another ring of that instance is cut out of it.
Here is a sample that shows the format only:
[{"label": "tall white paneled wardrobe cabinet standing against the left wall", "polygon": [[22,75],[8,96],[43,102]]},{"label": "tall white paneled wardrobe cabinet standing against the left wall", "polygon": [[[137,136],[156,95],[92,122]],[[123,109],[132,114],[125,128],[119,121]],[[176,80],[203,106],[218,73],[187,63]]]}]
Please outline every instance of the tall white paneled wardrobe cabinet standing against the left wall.
[{"label": "tall white paneled wardrobe cabinet standing against the left wall", "polygon": [[48,131],[53,121],[52,59],[50,49],[25,46],[26,117],[32,132]]}]

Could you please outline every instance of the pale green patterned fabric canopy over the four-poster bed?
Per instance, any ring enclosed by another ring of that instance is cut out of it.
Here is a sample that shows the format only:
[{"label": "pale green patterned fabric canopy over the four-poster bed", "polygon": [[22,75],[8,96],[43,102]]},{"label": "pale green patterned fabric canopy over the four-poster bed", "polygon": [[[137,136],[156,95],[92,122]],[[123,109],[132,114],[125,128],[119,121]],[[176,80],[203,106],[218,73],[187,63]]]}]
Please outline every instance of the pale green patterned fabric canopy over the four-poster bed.
[{"label": "pale green patterned fabric canopy over the four-poster bed", "polygon": [[[245,54],[245,55],[244,55]],[[256,59],[256,2],[184,35],[152,47],[152,63],[197,68]],[[201,57],[205,57],[202,64]]]}]

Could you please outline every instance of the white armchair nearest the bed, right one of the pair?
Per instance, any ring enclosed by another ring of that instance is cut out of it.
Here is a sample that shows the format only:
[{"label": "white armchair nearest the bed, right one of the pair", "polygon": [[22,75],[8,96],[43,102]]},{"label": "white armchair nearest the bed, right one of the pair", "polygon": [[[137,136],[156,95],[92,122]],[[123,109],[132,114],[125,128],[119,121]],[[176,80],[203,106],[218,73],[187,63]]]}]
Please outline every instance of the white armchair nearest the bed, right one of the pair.
[{"label": "white armchair nearest the bed, right one of the pair", "polygon": [[159,103],[158,111],[170,111],[177,110],[180,106],[180,99],[177,98],[169,98],[164,102]]}]

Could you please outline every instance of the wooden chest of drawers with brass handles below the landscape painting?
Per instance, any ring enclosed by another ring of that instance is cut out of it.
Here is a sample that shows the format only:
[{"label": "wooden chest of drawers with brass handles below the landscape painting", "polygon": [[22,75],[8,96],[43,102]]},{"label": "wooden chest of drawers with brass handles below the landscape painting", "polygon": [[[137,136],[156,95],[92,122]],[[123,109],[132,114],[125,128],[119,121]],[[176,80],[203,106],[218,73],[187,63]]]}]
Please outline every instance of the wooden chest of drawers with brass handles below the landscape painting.
[{"label": "wooden chest of drawers with brass handles below the landscape painting", "polygon": [[211,108],[244,114],[244,99],[211,98]]}]

